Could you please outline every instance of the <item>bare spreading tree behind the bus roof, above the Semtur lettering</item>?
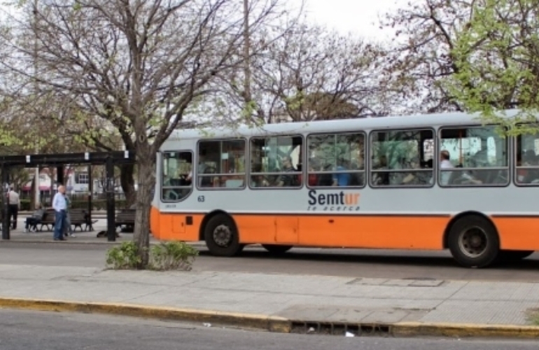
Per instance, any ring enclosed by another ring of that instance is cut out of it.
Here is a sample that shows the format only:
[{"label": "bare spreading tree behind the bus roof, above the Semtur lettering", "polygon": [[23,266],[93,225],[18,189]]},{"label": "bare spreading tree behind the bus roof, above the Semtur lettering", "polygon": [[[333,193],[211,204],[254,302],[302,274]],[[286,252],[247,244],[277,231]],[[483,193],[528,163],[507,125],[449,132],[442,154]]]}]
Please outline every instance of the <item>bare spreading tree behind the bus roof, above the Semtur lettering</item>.
[{"label": "bare spreading tree behind the bus roof, above the Semtur lettering", "polygon": [[384,51],[378,45],[302,23],[265,45],[272,36],[251,37],[251,47],[264,49],[251,55],[248,85],[241,69],[220,77],[228,83],[220,85],[228,86],[221,98],[244,117],[275,123],[384,114],[378,99]]}]

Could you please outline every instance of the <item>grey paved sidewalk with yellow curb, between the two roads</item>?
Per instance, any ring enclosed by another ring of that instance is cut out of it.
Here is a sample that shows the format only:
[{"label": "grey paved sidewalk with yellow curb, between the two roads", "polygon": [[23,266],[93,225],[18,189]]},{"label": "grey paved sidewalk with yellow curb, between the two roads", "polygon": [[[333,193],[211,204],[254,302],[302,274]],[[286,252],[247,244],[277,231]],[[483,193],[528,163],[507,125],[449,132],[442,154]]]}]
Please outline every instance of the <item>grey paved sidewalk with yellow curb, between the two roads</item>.
[{"label": "grey paved sidewalk with yellow curb, between the two roads", "polygon": [[0,265],[0,307],[176,318],[281,332],[539,336],[539,327],[528,318],[539,308],[539,283],[197,272],[196,262],[192,272]]}]

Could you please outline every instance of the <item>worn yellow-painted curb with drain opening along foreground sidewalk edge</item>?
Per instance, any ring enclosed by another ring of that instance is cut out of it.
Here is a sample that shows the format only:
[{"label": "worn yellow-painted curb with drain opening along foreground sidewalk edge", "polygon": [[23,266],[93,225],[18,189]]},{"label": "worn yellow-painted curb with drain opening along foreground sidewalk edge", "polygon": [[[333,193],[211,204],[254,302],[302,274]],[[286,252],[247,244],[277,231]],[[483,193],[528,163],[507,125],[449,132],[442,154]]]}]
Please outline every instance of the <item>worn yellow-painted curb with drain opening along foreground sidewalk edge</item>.
[{"label": "worn yellow-painted curb with drain opening along foreground sidewalk edge", "polygon": [[157,307],[137,304],[117,304],[104,302],[67,302],[62,300],[41,300],[0,297],[0,308],[27,309],[55,312],[83,312],[89,314],[113,314],[143,318],[157,318],[175,321],[195,321],[218,325],[253,328],[270,332],[290,333],[302,328],[315,329],[316,333],[343,335],[376,335],[385,333],[393,337],[496,337],[536,339],[539,327],[532,325],[485,325],[470,323],[324,323],[316,321],[292,321],[279,316],[241,314],[235,312],[211,311]]}]

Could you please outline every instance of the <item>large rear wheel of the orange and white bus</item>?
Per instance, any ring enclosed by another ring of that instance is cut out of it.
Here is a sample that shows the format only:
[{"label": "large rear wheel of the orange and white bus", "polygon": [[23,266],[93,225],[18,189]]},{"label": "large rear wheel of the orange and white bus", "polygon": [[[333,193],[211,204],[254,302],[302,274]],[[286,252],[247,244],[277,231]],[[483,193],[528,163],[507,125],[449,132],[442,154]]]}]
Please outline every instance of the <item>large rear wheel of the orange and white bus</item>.
[{"label": "large rear wheel of the orange and white bus", "polygon": [[459,218],[449,230],[449,251],[464,267],[487,267],[500,252],[500,239],[494,225],[482,216]]}]

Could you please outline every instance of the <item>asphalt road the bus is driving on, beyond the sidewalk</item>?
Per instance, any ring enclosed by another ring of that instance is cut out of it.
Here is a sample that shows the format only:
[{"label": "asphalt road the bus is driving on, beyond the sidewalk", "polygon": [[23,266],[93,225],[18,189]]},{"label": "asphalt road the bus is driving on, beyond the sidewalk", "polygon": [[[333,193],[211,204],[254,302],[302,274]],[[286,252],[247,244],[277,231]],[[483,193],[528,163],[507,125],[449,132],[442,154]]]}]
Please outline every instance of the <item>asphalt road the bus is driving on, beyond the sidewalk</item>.
[{"label": "asphalt road the bus is driving on, beyond the sidewalk", "polygon": [[[31,244],[0,242],[0,264],[104,267],[103,244]],[[448,252],[293,248],[273,257],[263,248],[246,248],[235,258],[217,258],[202,249],[196,271],[321,274],[363,278],[430,278],[539,281],[539,253],[510,265],[465,269]]]}]

